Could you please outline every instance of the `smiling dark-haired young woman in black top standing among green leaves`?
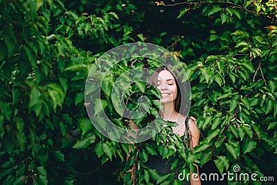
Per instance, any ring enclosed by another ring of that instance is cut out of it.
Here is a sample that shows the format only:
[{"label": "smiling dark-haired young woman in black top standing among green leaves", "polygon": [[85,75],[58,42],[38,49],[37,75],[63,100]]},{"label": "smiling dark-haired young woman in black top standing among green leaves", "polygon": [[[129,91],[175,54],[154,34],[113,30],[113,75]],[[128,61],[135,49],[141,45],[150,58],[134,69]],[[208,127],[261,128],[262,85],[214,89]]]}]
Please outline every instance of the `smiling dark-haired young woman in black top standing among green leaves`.
[{"label": "smiling dark-haired young woman in black top standing among green leaves", "polygon": [[[157,87],[161,91],[161,103],[163,103],[163,110],[161,117],[165,121],[176,122],[178,125],[172,127],[173,133],[184,136],[186,130],[188,130],[190,138],[190,148],[193,149],[199,143],[199,130],[196,125],[196,118],[186,116],[186,105],[181,105],[181,101],[186,98],[181,98],[181,95],[186,94],[186,89],[181,85],[181,80],[177,80],[178,71],[170,71],[171,66],[161,66],[156,69],[150,78],[150,83]],[[184,103],[183,103],[184,104]],[[134,130],[138,129],[137,125],[130,123]],[[154,168],[160,174],[170,172],[170,165],[166,164],[166,159],[161,157],[149,156],[148,166]],[[136,165],[132,168],[132,177],[134,178],[134,172]],[[197,168],[198,173],[198,168]],[[190,184],[201,184],[199,175],[195,177],[190,172]],[[135,179],[135,178],[134,178]],[[135,183],[134,183],[135,184]]]}]

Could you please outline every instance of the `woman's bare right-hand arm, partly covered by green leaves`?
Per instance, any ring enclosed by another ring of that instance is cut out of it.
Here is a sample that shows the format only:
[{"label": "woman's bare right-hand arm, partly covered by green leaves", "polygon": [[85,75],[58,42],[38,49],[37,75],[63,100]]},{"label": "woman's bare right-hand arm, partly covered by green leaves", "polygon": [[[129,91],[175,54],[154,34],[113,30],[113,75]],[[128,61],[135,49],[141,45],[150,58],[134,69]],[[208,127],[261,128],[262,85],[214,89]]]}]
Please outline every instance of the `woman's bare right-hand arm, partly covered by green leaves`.
[{"label": "woman's bare right-hand arm, partly covered by green leaves", "polygon": [[[188,127],[189,127],[189,131],[190,131],[190,149],[192,149],[192,150],[199,143],[199,134],[200,134],[200,132],[197,128],[196,122],[197,122],[197,120],[194,117],[190,117],[190,119],[188,121]],[[196,164],[195,164],[195,166],[197,168],[197,174],[198,175],[195,175],[190,171],[190,184],[191,185],[201,184],[200,177],[199,177],[198,166]]]}]

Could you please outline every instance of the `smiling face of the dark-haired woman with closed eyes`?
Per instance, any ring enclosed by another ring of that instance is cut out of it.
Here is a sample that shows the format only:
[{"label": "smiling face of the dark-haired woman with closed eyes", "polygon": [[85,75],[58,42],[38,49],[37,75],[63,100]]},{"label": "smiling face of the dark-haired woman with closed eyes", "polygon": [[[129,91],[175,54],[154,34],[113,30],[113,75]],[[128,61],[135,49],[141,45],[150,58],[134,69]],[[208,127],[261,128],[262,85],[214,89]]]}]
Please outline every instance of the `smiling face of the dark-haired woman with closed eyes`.
[{"label": "smiling face of the dark-haired woman with closed eyes", "polygon": [[161,91],[161,103],[172,103],[177,97],[177,84],[170,71],[159,73],[157,88]]}]

